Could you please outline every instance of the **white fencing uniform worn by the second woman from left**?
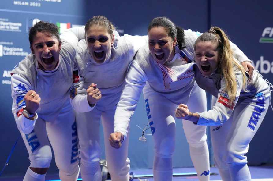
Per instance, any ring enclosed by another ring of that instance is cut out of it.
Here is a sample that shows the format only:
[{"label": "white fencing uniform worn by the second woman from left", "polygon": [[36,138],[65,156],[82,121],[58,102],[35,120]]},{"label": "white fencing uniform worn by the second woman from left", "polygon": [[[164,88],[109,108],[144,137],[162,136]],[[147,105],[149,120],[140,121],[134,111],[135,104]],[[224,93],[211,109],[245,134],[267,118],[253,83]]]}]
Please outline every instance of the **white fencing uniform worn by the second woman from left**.
[{"label": "white fencing uniform worn by the second woman from left", "polygon": [[[73,98],[71,103],[76,110],[81,176],[84,180],[101,180],[100,121],[103,124],[106,161],[111,179],[129,180],[128,141],[124,142],[121,149],[115,149],[110,146],[108,137],[114,130],[114,112],[122,93],[128,67],[137,50],[147,41],[147,36],[118,37],[117,44],[111,48],[110,58],[103,63],[95,62],[90,56],[85,40],[78,43],[74,77],[79,80],[71,89],[71,98]],[[92,111],[86,95],[86,89],[91,83],[96,83],[102,94],[101,100],[96,103]]]}]

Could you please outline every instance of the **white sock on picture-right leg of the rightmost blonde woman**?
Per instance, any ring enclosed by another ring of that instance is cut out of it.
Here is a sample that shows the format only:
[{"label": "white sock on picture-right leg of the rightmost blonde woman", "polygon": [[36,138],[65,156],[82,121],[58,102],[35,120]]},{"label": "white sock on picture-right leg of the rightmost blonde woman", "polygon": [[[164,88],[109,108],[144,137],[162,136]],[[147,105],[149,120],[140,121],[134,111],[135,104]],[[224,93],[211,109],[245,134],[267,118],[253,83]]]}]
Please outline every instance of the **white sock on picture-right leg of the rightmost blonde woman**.
[{"label": "white sock on picture-right leg of the rightmost blonde woman", "polygon": [[251,175],[247,164],[235,166],[229,165],[230,177],[232,181],[251,181]]}]

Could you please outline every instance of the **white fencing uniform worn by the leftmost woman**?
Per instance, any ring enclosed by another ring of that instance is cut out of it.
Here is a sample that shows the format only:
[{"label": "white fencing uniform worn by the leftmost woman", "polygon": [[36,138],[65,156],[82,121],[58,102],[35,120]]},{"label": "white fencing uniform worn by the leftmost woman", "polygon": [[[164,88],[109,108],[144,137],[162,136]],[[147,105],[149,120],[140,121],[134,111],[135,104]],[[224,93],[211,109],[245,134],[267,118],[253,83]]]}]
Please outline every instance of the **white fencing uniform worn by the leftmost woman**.
[{"label": "white fencing uniform worn by the leftmost woman", "polygon": [[[30,167],[49,167],[52,156],[51,144],[56,165],[60,170],[60,178],[72,181],[77,180],[79,167],[77,128],[70,104],[69,88],[73,83],[74,57],[78,41],[70,32],[64,32],[60,38],[62,49],[59,63],[54,70],[39,69],[32,54],[12,70],[12,112],[29,153]],[[26,106],[24,96],[29,90],[36,91],[41,98],[36,111],[38,119],[34,121],[22,115]],[[27,179],[27,176],[24,179],[33,180]]]}]

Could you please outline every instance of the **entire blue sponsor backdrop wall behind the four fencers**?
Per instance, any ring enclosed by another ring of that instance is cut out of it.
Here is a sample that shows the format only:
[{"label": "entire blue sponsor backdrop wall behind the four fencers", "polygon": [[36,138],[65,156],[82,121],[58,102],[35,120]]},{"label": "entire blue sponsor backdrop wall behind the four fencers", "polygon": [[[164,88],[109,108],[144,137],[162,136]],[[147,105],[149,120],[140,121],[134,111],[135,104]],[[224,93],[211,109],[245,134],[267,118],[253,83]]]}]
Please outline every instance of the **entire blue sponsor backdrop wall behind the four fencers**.
[{"label": "entire blue sponsor backdrop wall behind the four fencers", "polygon": [[[149,22],[152,18],[157,16],[167,16],[184,29],[192,29],[200,32],[206,31],[210,26],[209,22],[211,22],[211,24],[227,30],[231,40],[236,43],[250,59],[254,60],[253,63],[256,69],[260,70],[264,77],[271,81],[273,68],[271,70],[272,56],[269,55],[269,53],[272,49],[272,44],[260,43],[259,41],[271,40],[273,27],[272,23],[270,24],[270,17],[272,17],[270,7],[272,7],[272,5],[273,2],[271,1],[258,5],[257,2],[249,2],[246,0],[239,2],[232,0],[225,3],[215,0],[140,0],[122,3],[108,0],[103,2],[93,0],[0,1],[0,71],[3,73],[2,84],[0,84],[2,90],[0,100],[3,104],[1,106],[2,139],[0,143],[2,147],[0,166],[4,165],[16,138],[19,136],[19,131],[17,130],[11,113],[12,98],[10,96],[9,71],[12,70],[25,55],[30,53],[28,28],[32,26],[33,21],[36,21],[36,19],[60,24],[61,27],[74,27],[84,25],[91,16],[104,15],[114,23],[120,35],[146,35]],[[209,17],[211,17],[211,19]],[[251,143],[248,154],[249,163],[260,164],[262,162],[273,162],[272,156],[269,154],[272,152],[272,141],[270,139],[270,136],[272,136],[270,132],[272,125],[272,123],[270,123],[271,114],[272,111],[269,110],[260,131],[258,131]],[[140,143],[138,141],[138,137],[141,136],[141,130],[137,128],[136,125],[145,127],[146,124],[147,114],[144,99],[141,95],[137,110],[132,117],[130,125],[129,158],[131,160],[132,169],[152,167],[152,137],[146,136],[146,143]],[[103,137],[102,134],[101,137]],[[176,139],[176,151],[173,159],[174,167],[193,166],[189,156],[189,146],[186,142],[180,120],[177,120]],[[103,140],[103,138],[101,140]],[[261,141],[263,143],[262,145],[259,144]],[[102,147],[104,149],[103,142]],[[260,155],[263,155],[263,158],[261,158]],[[28,153],[20,138],[3,176],[11,174],[23,175],[28,166]],[[49,173],[56,172],[58,171],[53,159]]]}]

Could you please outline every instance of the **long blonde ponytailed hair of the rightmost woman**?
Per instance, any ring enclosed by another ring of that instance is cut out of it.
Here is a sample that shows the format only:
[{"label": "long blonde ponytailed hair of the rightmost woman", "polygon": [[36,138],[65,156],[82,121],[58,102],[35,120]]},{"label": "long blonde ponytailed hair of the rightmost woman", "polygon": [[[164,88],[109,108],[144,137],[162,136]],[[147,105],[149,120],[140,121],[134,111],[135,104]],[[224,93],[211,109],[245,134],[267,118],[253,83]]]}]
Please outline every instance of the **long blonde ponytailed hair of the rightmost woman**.
[{"label": "long blonde ponytailed hair of the rightmost woman", "polygon": [[246,90],[247,77],[243,66],[233,57],[233,52],[230,48],[230,42],[225,32],[219,27],[211,27],[211,29],[197,38],[194,48],[198,42],[210,41],[217,44],[219,54],[218,70],[221,76],[226,80],[225,92],[230,97],[230,104],[233,103],[237,93],[237,82],[234,73],[234,65],[242,72],[243,76],[243,90]]}]

